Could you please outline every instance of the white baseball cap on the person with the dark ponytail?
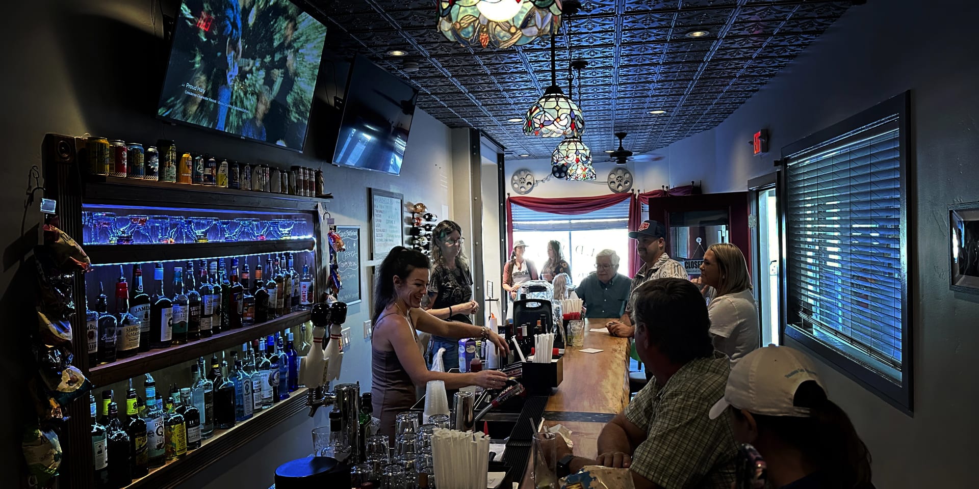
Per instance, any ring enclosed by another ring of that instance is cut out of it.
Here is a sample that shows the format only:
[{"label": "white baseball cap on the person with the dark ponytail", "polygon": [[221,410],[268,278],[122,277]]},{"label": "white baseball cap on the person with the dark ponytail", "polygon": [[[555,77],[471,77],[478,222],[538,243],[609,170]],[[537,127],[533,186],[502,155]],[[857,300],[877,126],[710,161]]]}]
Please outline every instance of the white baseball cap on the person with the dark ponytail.
[{"label": "white baseball cap on the person with the dark ponytail", "polygon": [[788,346],[766,346],[745,355],[727,377],[724,397],[711,408],[711,419],[727,406],[756,415],[809,418],[809,408],[794,405],[796,389],[803,382],[822,382],[809,357]]}]

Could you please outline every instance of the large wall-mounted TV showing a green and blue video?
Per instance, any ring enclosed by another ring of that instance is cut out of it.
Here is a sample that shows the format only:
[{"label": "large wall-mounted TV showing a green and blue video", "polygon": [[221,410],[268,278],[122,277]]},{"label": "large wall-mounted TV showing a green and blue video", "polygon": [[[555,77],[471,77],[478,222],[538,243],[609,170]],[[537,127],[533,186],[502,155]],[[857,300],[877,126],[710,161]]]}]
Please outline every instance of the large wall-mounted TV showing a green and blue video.
[{"label": "large wall-mounted TV showing a green and blue video", "polygon": [[184,0],[157,113],[302,152],[325,39],[289,0]]}]

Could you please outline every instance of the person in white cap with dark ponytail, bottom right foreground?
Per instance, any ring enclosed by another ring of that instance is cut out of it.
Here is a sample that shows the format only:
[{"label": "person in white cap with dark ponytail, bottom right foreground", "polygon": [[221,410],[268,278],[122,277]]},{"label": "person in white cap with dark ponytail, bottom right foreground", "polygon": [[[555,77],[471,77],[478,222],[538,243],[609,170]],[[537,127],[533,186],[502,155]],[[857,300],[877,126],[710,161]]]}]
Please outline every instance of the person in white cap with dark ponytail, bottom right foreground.
[{"label": "person in white cap with dark ponytail, bottom right foreground", "polygon": [[873,487],[866,445],[798,350],[767,346],[741,358],[711,408],[711,420],[722,416],[765,459],[772,489]]}]

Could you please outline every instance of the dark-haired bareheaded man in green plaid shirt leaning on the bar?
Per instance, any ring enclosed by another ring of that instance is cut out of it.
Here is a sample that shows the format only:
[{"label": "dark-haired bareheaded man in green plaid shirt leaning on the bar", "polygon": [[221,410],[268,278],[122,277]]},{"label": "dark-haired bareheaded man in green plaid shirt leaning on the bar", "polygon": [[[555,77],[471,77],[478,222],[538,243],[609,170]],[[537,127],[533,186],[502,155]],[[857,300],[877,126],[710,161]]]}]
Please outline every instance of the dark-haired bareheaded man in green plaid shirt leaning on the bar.
[{"label": "dark-haired bareheaded man in green plaid shirt leaning on the bar", "polygon": [[737,450],[730,414],[707,415],[730,369],[711,343],[703,295],[669,278],[639,286],[629,302],[636,350],[654,378],[602,428],[597,461],[575,457],[559,437],[558,471],[628,467],[636,489],[729,489]]}]

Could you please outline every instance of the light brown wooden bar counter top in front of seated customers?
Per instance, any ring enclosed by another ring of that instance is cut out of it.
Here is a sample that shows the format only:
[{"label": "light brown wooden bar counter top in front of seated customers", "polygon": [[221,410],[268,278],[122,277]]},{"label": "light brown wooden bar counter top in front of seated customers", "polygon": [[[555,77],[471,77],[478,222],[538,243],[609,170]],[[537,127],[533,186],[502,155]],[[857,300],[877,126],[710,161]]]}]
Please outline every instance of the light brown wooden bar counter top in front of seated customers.
[{"label": "light brown wooden bar counter top in front of seated customers", "polygon": [[[618,318],[616,318],[618,319]],[[611,319],[588,319],[584,346],[565,348],[564,379],[544,408],[544,424],[563,424],[572,431],[575,455],[594,459],[602,426],[629,404],[629,338],[607,333]],[[603,333],[591,333],[601,328]],[[583,353],[583,348],[603,350]],[[533,488],[529,464],[520,487]]]}]

